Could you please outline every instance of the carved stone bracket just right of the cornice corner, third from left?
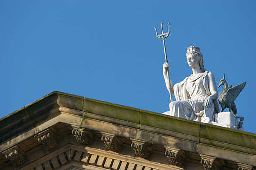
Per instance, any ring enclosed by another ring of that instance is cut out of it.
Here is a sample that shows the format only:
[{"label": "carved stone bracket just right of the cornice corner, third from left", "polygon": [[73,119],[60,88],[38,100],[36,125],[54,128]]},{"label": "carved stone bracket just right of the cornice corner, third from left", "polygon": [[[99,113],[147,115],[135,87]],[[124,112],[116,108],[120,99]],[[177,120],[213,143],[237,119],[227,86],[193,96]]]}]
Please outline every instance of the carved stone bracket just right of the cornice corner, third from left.
[{"label": "carved stone bracket just right of the cornice corner, third from left", "polygon": [[77,140],[77,143],[90,145],[92,143],[92,132],[89,129],[81,129],[79,126],[72,125],[72,134]]}]

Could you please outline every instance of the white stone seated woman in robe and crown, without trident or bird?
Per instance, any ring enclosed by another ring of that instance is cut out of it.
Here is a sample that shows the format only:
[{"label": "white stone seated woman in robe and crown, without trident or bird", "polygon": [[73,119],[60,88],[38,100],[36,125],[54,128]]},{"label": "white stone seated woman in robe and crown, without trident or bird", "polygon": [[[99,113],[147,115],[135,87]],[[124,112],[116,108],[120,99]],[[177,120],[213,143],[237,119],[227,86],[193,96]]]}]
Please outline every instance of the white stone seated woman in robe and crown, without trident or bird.
[{"label": "white stone seated woman in robe and crown, without trident or bird", "polygon": [[220,112],[215,78],[210,71],[205,70],[200,48],[188,47],[186,56],[193,74],[180,83],[173,85],[172,81],[168,80],[169,63],[163,64],[166,87],[176,99],[176,101],[170,102],[170,111],[164,114],[198,122],[214,122],[215,113]]}]

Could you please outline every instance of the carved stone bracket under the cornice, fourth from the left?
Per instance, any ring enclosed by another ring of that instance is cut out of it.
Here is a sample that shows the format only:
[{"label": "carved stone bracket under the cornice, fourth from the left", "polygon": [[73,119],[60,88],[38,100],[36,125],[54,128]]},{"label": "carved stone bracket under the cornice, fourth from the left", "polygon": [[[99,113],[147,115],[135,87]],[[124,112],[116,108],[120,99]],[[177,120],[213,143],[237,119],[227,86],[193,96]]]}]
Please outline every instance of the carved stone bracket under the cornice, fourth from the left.
[{"label": "carved stone bracket under the cornice, fourth from the left", "polygon": [[123,149],[123,142],[115,134],[101,132],[101,140],[105,143],[107,150],[120,152]]}]

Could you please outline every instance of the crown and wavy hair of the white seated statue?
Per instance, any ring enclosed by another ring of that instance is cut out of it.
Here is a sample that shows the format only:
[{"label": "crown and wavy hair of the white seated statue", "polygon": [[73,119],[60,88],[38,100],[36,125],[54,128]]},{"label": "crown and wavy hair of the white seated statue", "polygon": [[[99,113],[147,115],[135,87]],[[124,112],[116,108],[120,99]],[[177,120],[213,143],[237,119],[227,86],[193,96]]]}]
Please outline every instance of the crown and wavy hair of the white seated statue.
[{"label": "crown and wavy hair of the white seated statue", "polygon": [[200,48],[197,46],[190,46],[187,48],[186,56],[189,55],[194,56],[197,58],[197,63],[200,66],[201,71],[206,71],[204,68],[204,61],[203,61],[203,55],[200,52]]}]

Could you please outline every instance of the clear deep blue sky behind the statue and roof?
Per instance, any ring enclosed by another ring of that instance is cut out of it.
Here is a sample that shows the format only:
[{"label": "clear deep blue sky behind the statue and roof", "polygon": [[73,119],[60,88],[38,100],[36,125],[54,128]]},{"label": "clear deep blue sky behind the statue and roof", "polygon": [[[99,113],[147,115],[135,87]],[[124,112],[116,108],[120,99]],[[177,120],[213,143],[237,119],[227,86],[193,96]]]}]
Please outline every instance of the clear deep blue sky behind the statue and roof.
[{"label": "clear deep blue sky behind the statue and roof", "polygon": [[233,86],[247,81],[237,115],[256,133],[255,9],[254,0],[1,0],[0,117],[55,90],[168,111],[162,21],[172,82],[192,74],[186,49],[200,47],[217,86],[224,73]]}]

